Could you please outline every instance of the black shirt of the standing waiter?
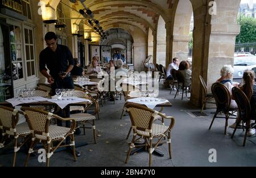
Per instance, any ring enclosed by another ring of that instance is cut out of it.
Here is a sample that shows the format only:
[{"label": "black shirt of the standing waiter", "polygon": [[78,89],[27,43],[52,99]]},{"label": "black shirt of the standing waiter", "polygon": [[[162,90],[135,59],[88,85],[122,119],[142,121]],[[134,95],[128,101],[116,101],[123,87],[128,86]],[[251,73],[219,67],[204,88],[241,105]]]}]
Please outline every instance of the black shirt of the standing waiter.
[{"label": "black shirt of the standing waiter", "polygon": [[74,65],[74,60],[67,46],[58,44],[55,52],[48,47],[40,52],[39,69],[47,70],[47,66],[53,78],[57,78],[61,71],[66,71],[69,65]]}]

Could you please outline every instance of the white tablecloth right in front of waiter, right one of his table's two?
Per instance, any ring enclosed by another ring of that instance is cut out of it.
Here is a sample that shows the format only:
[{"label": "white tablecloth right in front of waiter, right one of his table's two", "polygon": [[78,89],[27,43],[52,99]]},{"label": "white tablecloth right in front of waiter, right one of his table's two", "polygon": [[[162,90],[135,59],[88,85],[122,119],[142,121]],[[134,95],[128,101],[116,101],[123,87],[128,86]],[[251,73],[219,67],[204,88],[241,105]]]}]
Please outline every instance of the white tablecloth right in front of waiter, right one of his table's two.
[{"label": "white tablecloth right in front of waiter, right one of his table's two", "polygon": [[69,97],[68,98],[64,98],[63,99],[47,99],[47,101],[52,102],[52,103],[56,103],[57,105],[59,105],[59,107],[61,109],[65,108],[68,104],[72,104],[72,103],[81,103],[81,102],[89,102],[92,103],[92,101],[88,100],[88,99],[84,99],[84,98],[77,98],[77,97],[72,97],[72,99]]}]

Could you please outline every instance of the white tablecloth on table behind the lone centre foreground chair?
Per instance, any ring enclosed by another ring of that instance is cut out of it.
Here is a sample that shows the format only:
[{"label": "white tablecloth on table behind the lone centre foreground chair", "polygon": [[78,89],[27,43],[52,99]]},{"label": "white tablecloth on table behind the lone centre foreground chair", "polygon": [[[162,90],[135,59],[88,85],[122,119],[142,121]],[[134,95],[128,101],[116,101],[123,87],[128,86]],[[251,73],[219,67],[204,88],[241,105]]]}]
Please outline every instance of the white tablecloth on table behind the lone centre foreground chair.
[{"label": "white tablecloth on table behind the lone centre foreground chair", "polygon": [[169,101],[166,99],[141,97],[141,98],[129,99],[129,100],[127,100],[127,102],[144,104],[144,105],[146,105],[146,107],[148,107],[150,109],[154,109],[156,105],[167,103]]}]

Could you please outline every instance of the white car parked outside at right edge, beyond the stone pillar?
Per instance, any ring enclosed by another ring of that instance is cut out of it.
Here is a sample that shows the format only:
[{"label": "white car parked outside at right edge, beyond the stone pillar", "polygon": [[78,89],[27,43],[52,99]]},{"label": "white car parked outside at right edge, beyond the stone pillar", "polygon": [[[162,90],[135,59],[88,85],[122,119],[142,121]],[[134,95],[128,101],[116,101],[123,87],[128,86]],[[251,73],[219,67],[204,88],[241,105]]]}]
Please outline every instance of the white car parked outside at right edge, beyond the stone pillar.
[{"label": "white car parked outside at right edge, beyond the stone pillar", "polygon": [[256,56],[253,54],[234,57],[233,80],[241,80],[245,70],[254,70],[256,72]]}]

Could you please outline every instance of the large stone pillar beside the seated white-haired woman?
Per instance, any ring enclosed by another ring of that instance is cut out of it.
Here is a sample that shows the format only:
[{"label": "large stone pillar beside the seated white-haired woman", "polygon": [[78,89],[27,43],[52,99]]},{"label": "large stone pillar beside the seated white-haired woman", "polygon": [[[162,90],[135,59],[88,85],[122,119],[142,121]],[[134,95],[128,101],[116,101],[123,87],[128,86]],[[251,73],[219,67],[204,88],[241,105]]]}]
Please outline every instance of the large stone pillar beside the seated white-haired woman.
[{"label": "large stone pillar beside the seated white-haired woman", "polygon": [[[200,105],[203,91],[199,75],[210,92],[212,83],[220,77],[221,67],[233,65],[236,36],[240,32],[237,14],[241,0],[190,1],[194,15],[191,102]],[[211,12],[213,8],[215,14]]]}]

